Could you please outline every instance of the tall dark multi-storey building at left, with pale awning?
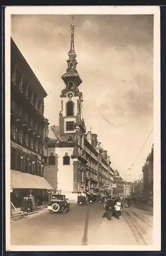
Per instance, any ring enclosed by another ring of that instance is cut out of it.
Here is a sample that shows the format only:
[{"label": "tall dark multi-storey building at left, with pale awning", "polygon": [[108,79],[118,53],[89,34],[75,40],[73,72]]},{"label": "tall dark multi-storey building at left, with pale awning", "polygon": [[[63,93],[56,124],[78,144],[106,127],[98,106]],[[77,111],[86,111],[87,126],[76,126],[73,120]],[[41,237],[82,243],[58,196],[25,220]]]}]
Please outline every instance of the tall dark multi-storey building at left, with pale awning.
[{"label": "tall dark multi-storey building at left, with pale awning", "polygon": [[20,207],[30,192],[43,196],[51,188],[44,178],[47,166],[47,96],[39,80],[11,38],[11,201]]}]

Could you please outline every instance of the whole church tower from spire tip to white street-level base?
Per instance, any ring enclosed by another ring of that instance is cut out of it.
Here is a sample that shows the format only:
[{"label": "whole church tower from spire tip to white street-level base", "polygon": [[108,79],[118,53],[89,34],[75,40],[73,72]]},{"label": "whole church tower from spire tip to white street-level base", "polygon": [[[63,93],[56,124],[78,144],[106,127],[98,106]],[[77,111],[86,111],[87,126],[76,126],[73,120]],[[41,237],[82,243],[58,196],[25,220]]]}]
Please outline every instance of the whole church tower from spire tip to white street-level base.
[{"label": "whole church tower from spire tip to white street-level base", "polygon": [[[66,73],[62,75],[65,89],[61,93],[61,111],[59,115],[59,126],[51,126],[56,135],[56,140],[50,142],[49,154],[56,157],[57,188],[62,194],[73,201],[77,201],[77,194],[80,190],[80,179],[85,175],[81,172],[81,162],[87,162],[82,158],[84,150],[84,137],[86,126],[82,118],[82,93],[79,86],[82,82],[77,72],[77,60],[74,49],[74,24],[71,26],[71,44],[68,52]],[[54,143],[54,144],[53,144]],[[84,164],[84,163],[83,163]],[[85,185],[84,185],[85,186]]]}]

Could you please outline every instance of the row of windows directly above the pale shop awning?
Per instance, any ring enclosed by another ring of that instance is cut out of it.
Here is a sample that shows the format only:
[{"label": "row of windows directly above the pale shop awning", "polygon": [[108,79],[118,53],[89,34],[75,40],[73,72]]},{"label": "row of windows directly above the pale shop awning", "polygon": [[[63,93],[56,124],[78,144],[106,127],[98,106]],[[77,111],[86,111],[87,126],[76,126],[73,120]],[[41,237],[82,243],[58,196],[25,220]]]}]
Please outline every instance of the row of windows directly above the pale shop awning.
[{"label": "row of windows directly above the pale shop awning", "polygon": [[39,176],[44,174],[44,164],[40,160],[23,155],[15,148],[11,148],[11,169]]}]

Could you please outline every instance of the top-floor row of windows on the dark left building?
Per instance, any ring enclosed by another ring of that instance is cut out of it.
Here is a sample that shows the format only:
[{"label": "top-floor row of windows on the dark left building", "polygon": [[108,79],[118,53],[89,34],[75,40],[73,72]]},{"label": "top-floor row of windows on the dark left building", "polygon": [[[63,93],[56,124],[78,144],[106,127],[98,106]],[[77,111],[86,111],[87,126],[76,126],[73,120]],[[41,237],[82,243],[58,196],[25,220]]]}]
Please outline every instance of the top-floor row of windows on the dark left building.
[{"label": "top-floor row of windows on the dark left building", "polygon": [[21,74],[18,68],[11,69],[11,79],[14,84],[19,88],[19,90],[24,94],[24,96],[35,106],[41,115],[44,112],[43,99],[39,99],[37,93],[33,90],[30,84],[27,83],[24,76]]}]

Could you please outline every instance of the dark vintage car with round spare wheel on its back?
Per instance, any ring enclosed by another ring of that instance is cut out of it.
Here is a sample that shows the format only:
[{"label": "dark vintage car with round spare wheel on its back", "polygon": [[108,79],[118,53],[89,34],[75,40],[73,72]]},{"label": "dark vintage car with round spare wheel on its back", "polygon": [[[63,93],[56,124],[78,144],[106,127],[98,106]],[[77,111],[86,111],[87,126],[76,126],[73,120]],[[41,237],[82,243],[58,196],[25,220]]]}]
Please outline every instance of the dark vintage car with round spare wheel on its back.
[{"label": "dark vintage car with round spare wheel on its back", "polygon": [[47,209],[49,213],[63,212],[63,214],[65,214],[69,212],[70,203],[66,201],[65,195],[53,194],[48,202]]}]

